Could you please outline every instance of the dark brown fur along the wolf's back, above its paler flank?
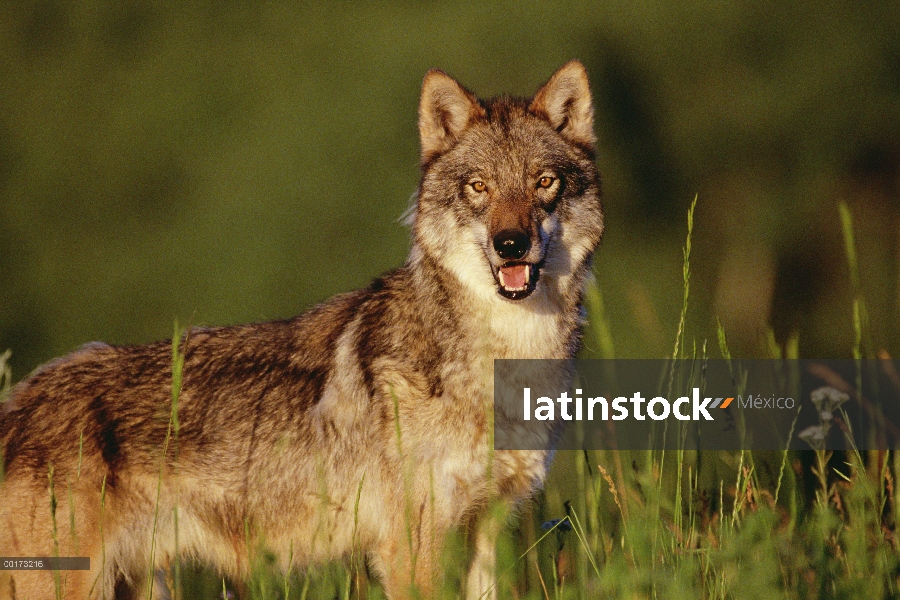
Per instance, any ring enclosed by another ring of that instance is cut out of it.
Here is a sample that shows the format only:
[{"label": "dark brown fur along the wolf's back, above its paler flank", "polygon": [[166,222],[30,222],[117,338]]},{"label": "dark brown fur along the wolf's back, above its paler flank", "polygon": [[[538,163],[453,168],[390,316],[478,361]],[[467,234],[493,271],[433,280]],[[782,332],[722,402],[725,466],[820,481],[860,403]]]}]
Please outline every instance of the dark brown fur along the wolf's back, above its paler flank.
[{"label": "dark brown fur along the wolf's back, above its paler flank", "polygon": [[185,458],[233,457],[227,450],[240,448],[254,423],[289,420],[316,403],[336,340],[366,296],[339,296],[291,320],[192,329],[181,341],[174,415],[168,341],[89,344],[54,360],[13,388],[0,417],[7,474],[54,463],[66,475],[79,451],[99,453],[112,480],[122,465],[153,468],[170,417]]}]

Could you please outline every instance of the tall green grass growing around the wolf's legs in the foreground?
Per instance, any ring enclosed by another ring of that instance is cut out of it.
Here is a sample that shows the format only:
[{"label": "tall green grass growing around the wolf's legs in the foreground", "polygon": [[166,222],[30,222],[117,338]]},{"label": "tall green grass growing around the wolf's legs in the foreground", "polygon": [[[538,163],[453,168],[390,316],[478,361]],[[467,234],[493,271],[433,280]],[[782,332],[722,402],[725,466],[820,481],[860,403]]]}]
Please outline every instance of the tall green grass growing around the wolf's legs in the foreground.
[{"label": "tall green grass growing around the wolf's legs in the foreground", "polygon": [[[695,208],[696,199],[683,255],[676,358],[708,354],[705,338],[687,343]],[[853,352],[860,358],[872,353],[872,347],[846,207],[841,221],[854,288]],[[598,286],[588,290],[587,303],[587,339],[595,342],[596,355],[611,357],[613,340]],[[722,356],[730,359],[724,329],[710,333]],[[183,358],[179,338],[176,331],[170,419],[176,452]],[[770,343],[778,358],[796,358],[797,347],[796,338],[783,347]],[[0,356],[0,374],[4,358]],[[399,419],[396,438],[402,455]],[[167,437],[167,445],[169,441]],[[490,455],[486,449],[486,458]],[[898,597],[898,474],[900,455],[894,451],[561,452],[544,490],[498,536],[498,595],[510,600]],[[52,470],[49,476],[55,503]],[[358,506],[359,495],[355,513]],[[542,527],[553,520],[555,526]],[[54,529],[57,534],[65,533]],[[457,535],[445,549],[445,577],[437,598],[462,596],[464,547],[463,536]],[[359,556],[349,565],[287,574],[275,568],[273,557],[259,556],[246,582],[251,598],[383,598]],[[176,598],[215,598],[231,589],[230,582],[193,564],[177,565],[174,581]]]}]

